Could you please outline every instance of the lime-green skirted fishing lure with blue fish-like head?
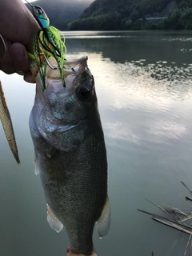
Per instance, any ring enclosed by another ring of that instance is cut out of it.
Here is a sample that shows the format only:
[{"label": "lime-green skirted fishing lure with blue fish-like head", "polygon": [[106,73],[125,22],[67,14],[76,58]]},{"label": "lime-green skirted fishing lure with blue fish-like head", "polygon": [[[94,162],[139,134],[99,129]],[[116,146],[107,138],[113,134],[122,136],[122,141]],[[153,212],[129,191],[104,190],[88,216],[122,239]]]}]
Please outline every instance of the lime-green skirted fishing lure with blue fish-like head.
[{"label": "lime-green skirted fishing lure with blue fish-like head", "polygon": [[[26,1],[27,2],[27,1]],[[30,4],[30,2],[27,2]],[[37,65],[37,70],[35,70],[34,75],[38,72],[40,74],[43,90],[46,90],[46,68],[50,66],[51,69],[58,69],[61,74],[63,87],[66,87],[64,79],[64,62],[66,55],[65,38],[63,36],[63,41],[60,36],[60,31],[54,26],[50,26],[50,20],[47,17],[42,7],[31,5],[32,14],[37,20],[41,30],[34,36],[33,41],[33,51],[34,54],[29,54],[30,58],[34,58]],[[54,58],[58,66],[54,67],[50,65],[49,58]]]}]

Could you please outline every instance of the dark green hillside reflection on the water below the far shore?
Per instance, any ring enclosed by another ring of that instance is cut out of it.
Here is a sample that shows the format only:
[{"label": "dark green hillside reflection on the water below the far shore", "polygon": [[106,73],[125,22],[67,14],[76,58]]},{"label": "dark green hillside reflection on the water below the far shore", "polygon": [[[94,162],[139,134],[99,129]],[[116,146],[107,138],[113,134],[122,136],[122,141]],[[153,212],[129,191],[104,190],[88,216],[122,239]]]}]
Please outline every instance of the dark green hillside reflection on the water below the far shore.
[{"label": "dark green hillside reflection on the water below the far shore", "polygon": [[158,61],[192,63],[192,38],[167,34],[108,34],[90,38],[67,38],[68,50],[76,48],[86,52],[102,53],[112,62],[131,62],[146,59],[147,63]]}]

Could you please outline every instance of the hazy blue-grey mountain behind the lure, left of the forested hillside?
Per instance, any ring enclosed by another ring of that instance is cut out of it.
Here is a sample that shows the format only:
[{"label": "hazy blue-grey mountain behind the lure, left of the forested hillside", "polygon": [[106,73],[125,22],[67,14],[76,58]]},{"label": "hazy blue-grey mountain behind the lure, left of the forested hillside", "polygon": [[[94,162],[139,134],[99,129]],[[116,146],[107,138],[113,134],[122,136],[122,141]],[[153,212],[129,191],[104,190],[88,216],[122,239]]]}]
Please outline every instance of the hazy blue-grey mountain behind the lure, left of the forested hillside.
[{"label": "hazy blue-grey mountain behind the lure, left of the forested hillside", "polygon": [[[82,12],[90,6],[94,0],[38,0],[32,2],[41,6],[50,18],[50,24],[59,30],[68,30],[67,24],[79,18]],[[30,5],[26,4],[30,9]]]}]

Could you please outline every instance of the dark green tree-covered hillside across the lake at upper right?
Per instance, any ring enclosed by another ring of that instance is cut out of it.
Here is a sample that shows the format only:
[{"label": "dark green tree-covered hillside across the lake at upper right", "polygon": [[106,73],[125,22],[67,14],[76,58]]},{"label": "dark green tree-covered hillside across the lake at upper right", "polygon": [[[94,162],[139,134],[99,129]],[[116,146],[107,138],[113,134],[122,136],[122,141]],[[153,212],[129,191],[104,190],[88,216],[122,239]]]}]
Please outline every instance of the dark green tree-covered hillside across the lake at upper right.
[{"label": "dark green tree-covered hillside across the lake at upper right", "polygon": [[69,29],[192,29],[192,0],[95,0]]}]

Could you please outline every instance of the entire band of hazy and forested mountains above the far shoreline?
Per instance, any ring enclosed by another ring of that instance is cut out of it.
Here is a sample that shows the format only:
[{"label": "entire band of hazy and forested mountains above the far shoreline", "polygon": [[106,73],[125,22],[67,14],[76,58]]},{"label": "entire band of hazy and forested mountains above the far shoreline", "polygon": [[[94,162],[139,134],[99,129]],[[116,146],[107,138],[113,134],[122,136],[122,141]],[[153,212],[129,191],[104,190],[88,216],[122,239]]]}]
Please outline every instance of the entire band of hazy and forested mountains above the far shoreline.
[{"label": "entire band of hazy and forested mountains above the far shoreline", "polygon": [[[38,0],[59,30],[192,30],[192,0]],[[29,5],[28,5],[29,6]]]}]

